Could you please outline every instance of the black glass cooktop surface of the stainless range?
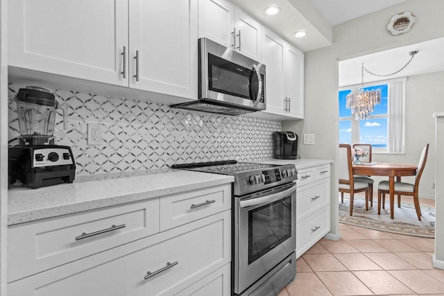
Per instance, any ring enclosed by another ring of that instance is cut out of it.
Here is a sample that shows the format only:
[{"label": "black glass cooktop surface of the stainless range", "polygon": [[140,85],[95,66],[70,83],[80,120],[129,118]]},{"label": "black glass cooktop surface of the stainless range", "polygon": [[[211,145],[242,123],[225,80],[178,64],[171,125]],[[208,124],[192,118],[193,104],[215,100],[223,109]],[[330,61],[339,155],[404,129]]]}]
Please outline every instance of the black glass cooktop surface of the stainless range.
[{"label": "black glass cooktop surface of the stainless range", "polygon": [[171,168],[182,168],[189,171],[198,171],[205,173],[218,173],[222,175],[235,175],[239,172],[262,171],[266,168],[274,168],[274,164],[253,164],[250,162],[237,162],[227,160],[223,162],[201,162],[195,164],[175,164]]}]

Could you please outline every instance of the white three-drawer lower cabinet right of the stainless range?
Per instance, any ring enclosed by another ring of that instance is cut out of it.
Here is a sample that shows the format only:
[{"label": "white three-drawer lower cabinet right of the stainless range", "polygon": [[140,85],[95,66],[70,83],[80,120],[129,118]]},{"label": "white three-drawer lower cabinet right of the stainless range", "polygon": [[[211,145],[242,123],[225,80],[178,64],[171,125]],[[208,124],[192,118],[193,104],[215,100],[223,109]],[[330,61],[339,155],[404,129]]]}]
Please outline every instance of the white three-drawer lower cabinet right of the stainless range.
[{"label": "white three-drawer lower cabinet right of the stainless range", "polygon": [[296,257],[330,232],[330,165],[298,171]]}]

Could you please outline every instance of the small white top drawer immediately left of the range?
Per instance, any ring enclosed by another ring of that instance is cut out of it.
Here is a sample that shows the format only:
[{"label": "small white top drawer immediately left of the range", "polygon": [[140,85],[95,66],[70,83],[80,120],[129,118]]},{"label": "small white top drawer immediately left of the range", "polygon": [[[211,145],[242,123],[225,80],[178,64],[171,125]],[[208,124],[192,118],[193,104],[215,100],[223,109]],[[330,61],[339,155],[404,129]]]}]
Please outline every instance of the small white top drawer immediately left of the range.
[{"label": "small white top drawer immediately left of the range", "polygon": [[231,184],[160,198],[160,231],[231,208]]}]

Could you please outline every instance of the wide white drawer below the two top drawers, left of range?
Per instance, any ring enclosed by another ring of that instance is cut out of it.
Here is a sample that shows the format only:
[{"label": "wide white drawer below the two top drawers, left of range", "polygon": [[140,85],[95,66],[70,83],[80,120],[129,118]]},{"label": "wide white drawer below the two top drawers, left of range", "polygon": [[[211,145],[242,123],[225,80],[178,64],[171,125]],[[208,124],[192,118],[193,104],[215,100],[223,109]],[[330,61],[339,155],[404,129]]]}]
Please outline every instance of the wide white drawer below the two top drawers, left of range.
[{"label": "wide white drawer below the two top drawers, left of range", "polygon": [[230,263],[230,251],[224,211],[20,279],[8,284],[8,295],[175,295]]}]

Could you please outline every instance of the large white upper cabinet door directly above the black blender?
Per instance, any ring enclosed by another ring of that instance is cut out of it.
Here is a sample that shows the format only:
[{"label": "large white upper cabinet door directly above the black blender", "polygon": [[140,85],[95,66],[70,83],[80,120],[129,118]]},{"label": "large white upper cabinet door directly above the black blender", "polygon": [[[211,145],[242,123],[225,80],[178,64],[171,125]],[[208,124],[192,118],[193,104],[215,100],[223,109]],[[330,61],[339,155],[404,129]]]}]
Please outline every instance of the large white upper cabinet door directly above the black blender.
[{"label": "large white upper cabinet door directly above the black blender", "polygon": [[128,86],[128,0],[8,1],[8,26],[10,66]]}]

